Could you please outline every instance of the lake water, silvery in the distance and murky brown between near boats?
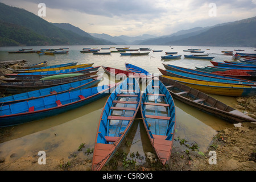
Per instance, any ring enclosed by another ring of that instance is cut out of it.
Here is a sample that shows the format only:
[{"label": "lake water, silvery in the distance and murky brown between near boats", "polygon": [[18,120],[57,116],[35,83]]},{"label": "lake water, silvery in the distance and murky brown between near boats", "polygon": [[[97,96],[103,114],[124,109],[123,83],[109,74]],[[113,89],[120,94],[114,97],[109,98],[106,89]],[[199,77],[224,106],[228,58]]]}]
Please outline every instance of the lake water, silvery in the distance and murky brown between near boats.
[{"label": "lake water, silvery in the distance and murky brown between near boats", "polygon": [[[94,63],[94,67],[105,65],[108,67],[125,70],[125,63],[137,65],[146,69],[150,73],[159,73],[158,68],[162,68],[163,64],[173,64],[180,67],[192,68],[205,67],[212,65],[209,60],[193,60],[181,59],[162,60],[160,56],[165,52],[178,52],[178,55],[189,55],[190,52],[183,52],[184,49],[197,48],[214,56],[213,61],[231,60],[232,56],[222,55],[221,51],[234,51],[234,49],[245,49],[246,53],[254,53],[255,48],[246,47],[191,47],[191,46],[130,46],[130,49],[138,49],[140,47],[148,47],[152,50],[163,50],[163,52],[152,52],[143,56],[121,56],[120,53],[111,53],[110,55],[93,55],[93,53],[81,53],[83,47],[97,48],[122,48],[124,46],[49,46],[49,47],[0,47],[0,60],[26,60],[28,64],[35,64],[41,61],[48,61],[48,65],[78,62],[77,64]],[[6,51],[18,51],[20,48],[33,48],[39,50],[43,48],[69,48],[67,55],[42,55],[37,53],[7,53]],[[209,50],[207,50],[209,49]],[[110,50],[115,50],[114,48]],[[110,50],[101,50],[101,52],[109,52]],[[236,51],[234,51],[236,52]],[[98,69],[100,73],[104,73],[103,69]],[[108,76],[104,75],[104,81],[100,84],[108,83]],[[224,97],[211,95],[214,98],[233,106],[236,103],[234,97]],[[85,143],[86,148],[93,148],[96,138],[96,131],[100,119],[102,108],[108,97],[93,102],[91,104],[79,107],[78,109],[68,111],[53,117],[40,119],[38,121],[24,123],[23,125],[8,127],[7,137],[2,137],[0,141],[0,157],[5,158],[5,163],[13,163],[15,160],[26,158],[26,156],[38,155],[39,151],[45,151],[47,156],[47,164],[54,165],[59,163],[61,159],[66,162],[71,160],[71,154],[76,153],[82,158],[90,158],[92,155],[86,155],[84,152],[77,152],[81,143]],[[207,151],[212,137],[218,130],[234,125],[225,122],[212,115],[203,113],[195,108],[185,105],[180,101],[174,100],[176,105],[176,133],[175,138],[188,140],[189,143],[197,143],[199,150]],[[141,115],[137,115],[138,118]],[[147,139],[142,120],[137,119],[130,130],[127,140],[130,141],[131,147],[124,150],[144,155],[144,152],[152,152],[152,147]],[[174,147],[179,147],[179,142],[174,142]],[[15,155],[12,155],[15,154]],[[12,155],[12,156],[11,156]],[[56,163],[51,163],[51,160]],[[26,169],[26,168],[24,168]]]}]

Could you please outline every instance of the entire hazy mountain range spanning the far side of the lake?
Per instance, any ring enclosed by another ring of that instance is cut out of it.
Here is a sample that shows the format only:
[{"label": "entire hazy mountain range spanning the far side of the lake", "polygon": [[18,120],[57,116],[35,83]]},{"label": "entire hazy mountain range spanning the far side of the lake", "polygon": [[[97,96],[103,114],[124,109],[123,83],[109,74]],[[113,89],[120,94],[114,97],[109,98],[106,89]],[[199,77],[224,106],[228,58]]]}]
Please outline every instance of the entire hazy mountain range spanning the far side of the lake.
[{"label": "entire hazy mountain range spanning the far side of the lake", "polygon": [[253,18],[195,27],[156,37],[93,34],[69,23],[49,23],[24,9],[0,3],[0,46],[53,45],[168,45],[256,47],[256,16]]}]

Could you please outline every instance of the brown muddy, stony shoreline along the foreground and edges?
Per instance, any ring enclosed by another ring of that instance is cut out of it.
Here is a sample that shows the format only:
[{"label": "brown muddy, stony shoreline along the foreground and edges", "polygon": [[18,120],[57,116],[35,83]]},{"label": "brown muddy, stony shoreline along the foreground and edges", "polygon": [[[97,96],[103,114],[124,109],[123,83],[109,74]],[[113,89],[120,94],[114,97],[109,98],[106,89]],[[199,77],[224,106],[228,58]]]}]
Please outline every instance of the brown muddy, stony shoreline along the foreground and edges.
[{"label": "brown muddy, stony shoreline along the foreground and edges", "polygon": [[[22,67],[26,61],[19,60],[11,63],[0,62],[0,76],[11,73],[2,68]],[[2,95],[4,96],[4,95]],[[233,103],[234,108],[245,112],[250,117],[256,118],[256,97],[237,97]],[[0,143],[11,135],[11,128],[0,129]],[[118,150],[114,158],[103,168],[105,171],[132,170],[132,171],[255,171],[256,170],[256,124],[242,123],[241,126],[218,131],[209,144],[207,152],[200,152],[195,143],[175,136],[175,147],[172,149],[171,160],[166,166],[162,166],[154,158],[154,154],[147,154],[146,158],[137,154],[130,154]],[[124,143],[125,145],[127,143]],[[78,146],[79,147],[79,146]],[[122,147],[121,147],[122,148]],[[1,156],[1,171],[90,171],[92,165],[92,149],[81,147],[81,151],[74,153],[68,159],[51,159],[47,156],[47,165],[38,165],[37,155],[27,155],[6,162]],[[86,158],[84,156],[86,155]],[[215,158],[214,158],[215,156]],[[15,157],[15,154],[10,154]],[[216,163],[215,163],[216,162]]]}]

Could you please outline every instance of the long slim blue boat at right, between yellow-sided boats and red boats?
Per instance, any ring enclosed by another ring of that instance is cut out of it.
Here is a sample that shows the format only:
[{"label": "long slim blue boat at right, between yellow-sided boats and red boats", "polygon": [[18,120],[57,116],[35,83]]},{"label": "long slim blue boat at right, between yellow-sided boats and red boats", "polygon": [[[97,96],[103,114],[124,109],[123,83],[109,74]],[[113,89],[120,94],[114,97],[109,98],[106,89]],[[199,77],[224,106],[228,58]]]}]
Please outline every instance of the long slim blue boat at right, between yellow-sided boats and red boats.
[{"label": "long slim blue boat at right, between yellow-sided boats and red boats", "polygon": [[177,72],[191,73],[193,75],[212,77],[212,78],[223,78],[225,80],[238,80],[240,82],[250,82],[249,80],[245,80],[245,79],[241,79],[241,78],[234,78],[234,77],[229,77],[229,76],[222,76],[222,75],[218,75],[218,74],[212,73],[212,72],[197,71],[195,69],[177,67],[177,66],[171,65],[171,64],[163,64],[163,65],[164,65],[164,68],[172,70],[172,71],[177,71]]}]

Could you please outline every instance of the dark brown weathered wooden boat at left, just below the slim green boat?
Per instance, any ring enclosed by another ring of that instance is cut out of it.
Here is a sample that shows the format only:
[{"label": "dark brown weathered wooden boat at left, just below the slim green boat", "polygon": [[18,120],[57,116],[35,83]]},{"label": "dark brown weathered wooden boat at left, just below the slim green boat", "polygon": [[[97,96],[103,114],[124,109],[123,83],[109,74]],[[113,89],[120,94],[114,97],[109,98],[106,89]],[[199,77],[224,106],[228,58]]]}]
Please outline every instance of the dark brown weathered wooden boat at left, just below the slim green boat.
[{"label": "dark brown weathered wooden boat at left, just below the slim green boat", "polygon": [[80,75],[75,77],[59,78],[54,80],[30,80],[21,82],[6,82],[0,84],[0,92],[18,94],[30,92],[33,90],[44,89],[52,86],[68,84],[70,82],[88,79],[87,75]]}]

